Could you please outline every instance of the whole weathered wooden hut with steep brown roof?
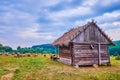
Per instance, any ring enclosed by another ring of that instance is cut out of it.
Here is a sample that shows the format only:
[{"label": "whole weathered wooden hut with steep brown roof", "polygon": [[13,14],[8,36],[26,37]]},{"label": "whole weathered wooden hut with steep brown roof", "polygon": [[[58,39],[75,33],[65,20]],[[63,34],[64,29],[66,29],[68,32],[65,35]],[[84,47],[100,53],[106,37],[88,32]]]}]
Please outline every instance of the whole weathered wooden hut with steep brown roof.
[{"label": "whole weathered wooden hut with steep brown roof", "polygon": [[73,28],[52,43],[59,46],[59,61],[73,66],[110,64],[112,40],[92,21]]}]

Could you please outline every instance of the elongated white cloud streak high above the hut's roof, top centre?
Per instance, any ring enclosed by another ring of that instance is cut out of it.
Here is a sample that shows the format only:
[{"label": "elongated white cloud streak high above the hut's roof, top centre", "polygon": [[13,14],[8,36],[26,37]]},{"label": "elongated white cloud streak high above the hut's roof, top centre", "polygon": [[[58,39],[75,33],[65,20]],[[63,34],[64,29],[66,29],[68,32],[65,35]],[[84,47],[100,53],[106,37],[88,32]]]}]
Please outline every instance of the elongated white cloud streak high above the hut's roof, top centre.
[{"label": "elongated white cloud streak high above the hut's roof, top centre", "polygon": [[48,12],[48,17],[52,20],[61,20],[65,18],[90,15],[92,13],[93,11],[91,8],[78,6],[76,8],[64,9],[57,12]]}]

